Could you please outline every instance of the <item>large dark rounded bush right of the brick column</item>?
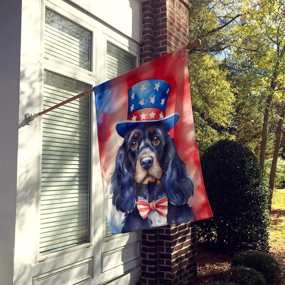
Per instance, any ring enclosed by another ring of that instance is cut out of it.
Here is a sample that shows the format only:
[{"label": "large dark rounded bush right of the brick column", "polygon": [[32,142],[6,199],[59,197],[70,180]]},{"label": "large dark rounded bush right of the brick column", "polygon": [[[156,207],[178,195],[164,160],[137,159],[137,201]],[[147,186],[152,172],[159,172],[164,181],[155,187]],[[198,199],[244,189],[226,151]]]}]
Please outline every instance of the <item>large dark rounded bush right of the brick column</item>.
[{"label": "large dark rounded bush right of the brick column", "polygon": [[201,157],[213,218],[197,222],[198,238],[221,249],[269,249],[268,187],[248,147],[221,140]]}]

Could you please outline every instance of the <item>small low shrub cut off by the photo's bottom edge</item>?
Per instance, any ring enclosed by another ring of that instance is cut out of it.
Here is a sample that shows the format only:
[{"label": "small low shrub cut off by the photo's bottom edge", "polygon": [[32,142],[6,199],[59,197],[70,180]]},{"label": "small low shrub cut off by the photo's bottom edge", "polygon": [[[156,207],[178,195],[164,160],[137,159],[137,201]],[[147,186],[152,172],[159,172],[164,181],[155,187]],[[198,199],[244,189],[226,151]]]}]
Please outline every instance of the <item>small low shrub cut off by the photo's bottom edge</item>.
[{"label": "small low shrub cut off by the photo's bottom edge", "polygon": [[266,285],[265,278],[260,272],[244,266],[231,267],[226,279],[239,285]]}]

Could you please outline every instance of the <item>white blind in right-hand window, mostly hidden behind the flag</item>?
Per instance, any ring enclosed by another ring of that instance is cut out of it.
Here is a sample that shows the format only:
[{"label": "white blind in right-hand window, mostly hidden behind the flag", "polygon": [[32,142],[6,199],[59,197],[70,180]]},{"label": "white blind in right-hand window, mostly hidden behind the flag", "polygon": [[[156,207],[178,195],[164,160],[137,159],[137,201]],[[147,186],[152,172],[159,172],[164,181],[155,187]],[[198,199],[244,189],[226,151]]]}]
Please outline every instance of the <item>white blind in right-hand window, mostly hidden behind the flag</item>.
[{"label": "white blind in right-hand window, mostly hidden behind the flag", "polygon": [[[106,77],[112,79],[136,67],[136,57],[125,50],[107,42]],[[111,231],[105,215],[105,237],[111,236]]]}]

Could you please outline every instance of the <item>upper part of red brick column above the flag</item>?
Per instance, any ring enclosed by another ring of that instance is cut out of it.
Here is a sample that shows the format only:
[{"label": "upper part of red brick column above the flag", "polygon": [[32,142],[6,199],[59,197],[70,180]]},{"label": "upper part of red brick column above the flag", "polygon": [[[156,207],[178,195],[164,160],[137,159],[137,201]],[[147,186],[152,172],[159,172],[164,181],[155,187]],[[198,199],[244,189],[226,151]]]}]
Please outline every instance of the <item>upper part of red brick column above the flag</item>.
[{"label": "upper part of red brick column above the flag", "polygon": [[146,0],[142,3],[141,64],[188,42],[188,0]]}]

